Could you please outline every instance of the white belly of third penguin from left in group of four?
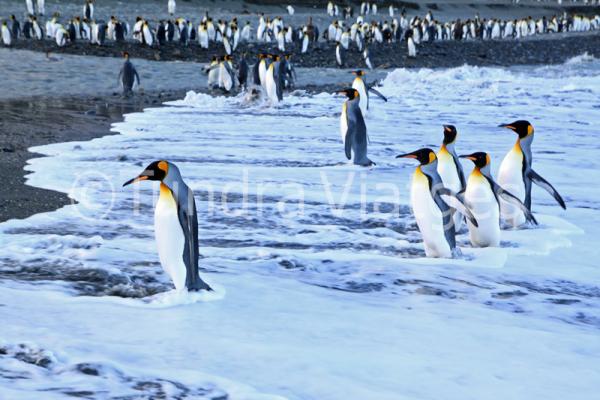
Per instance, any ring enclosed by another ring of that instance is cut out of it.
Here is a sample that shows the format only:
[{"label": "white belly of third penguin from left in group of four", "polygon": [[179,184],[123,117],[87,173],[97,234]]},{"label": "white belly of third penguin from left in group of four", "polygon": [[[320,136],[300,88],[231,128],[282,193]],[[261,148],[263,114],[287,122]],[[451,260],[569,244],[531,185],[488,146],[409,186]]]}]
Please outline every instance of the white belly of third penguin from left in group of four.
[{"label": "white belly of third penguin from left in group of four", "polygon": [[467,220],[469,237],[474,247],[500,245],[500,209],[487,179],[479,172],[469,177],[465,200],[475,219],[476,227]]}]

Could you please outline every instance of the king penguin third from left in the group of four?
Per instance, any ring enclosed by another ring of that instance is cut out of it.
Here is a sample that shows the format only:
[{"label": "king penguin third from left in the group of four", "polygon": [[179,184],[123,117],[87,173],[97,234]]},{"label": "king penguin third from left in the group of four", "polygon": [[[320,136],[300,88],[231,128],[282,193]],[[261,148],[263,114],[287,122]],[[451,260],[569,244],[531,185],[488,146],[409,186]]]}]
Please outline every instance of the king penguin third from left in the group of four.
[{"label": "king penguin third from left in the group of four", "polygon": [[490,171],[490,155],[477,152],[460,156],[475,164],[469,175],[464,192],[465,203],[477,218],[479,226],[468,222],[469,238],[474,247],[498,247],[500,245],[500,201],[505,201],[523,211],[527,221],[537,225],[537,221],[525,204],[510,192],[498,185]]}]

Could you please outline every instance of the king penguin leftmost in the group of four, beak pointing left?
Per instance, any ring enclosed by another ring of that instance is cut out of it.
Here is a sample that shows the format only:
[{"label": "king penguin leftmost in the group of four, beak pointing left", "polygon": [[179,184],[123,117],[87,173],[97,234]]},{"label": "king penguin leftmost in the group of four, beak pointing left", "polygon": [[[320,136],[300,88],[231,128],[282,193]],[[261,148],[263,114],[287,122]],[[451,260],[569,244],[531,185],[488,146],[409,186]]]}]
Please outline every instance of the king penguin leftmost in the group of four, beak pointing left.
[{"label": "king penguin leftmost in the group of four, beak pointing left", "polygon": [[423,236],[427,257],[451,258],[456,253],[456,232],[452,222],[455,208],[477,226],[477,220],[457,195],[444,187],[437,172],[437,157],[433,150],[423,148],[396,158],[413,158],[419,166],[413,174],[410,202]]}]

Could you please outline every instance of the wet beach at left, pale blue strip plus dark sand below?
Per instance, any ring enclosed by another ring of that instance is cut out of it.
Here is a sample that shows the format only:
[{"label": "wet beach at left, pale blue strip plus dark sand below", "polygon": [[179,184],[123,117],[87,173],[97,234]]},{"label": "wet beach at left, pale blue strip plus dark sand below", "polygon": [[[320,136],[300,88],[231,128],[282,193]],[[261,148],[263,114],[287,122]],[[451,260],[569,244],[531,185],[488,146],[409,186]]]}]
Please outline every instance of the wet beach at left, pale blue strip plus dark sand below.
[{"label": "wet beach at left, pale blue strip plus dark sand below", "polygon": [[[0,49],[0,170],[6,171],[0,222],[71,204],[63,193],[26,184],[23,168],[36,156],[30,147],[109,135],[111,124],[123,114],[181,99],[188,90],[207,92],[206,75],[197,63],[132,61],[141,86],[126,99],[117,82],[120,59],[51,54],[49,60],[43,53]],[[369,82],[384,75],[374,72]],[[333,91],[351,79],[348,71],[299,68],[297,88]]]}]

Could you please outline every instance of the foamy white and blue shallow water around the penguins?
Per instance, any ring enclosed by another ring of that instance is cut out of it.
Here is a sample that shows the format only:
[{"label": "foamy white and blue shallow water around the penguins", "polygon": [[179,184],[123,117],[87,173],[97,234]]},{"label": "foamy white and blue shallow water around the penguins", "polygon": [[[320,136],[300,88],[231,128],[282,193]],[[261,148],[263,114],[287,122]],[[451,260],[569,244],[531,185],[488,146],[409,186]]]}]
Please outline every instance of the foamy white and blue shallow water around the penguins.
[{"label": "foamy white and blue shallow water around the penguins", "polygon": [[[302,92],[278,108],[189,93],[128,115],[121,135],[35,148],[48,157],[31,161],[29,183],[80,203],[0,225],[6,393],[79,390],[76,380],[101,398],[106,386],[73,372],[81,363],[115,390],[131,390],[118,378],[129,376],[231,398],[597,393],[600,62],[397,70],[381,92],[389,101],[371,99],[367,117],[370,169],[346,163],[343,99]],[[503,231],[497,249],[462,234],[462,257],[424,258],[414,165],[394,156],[437,148],[454,123],[459,153],[486,150],[495,171],[515,140],[496,126],[518,118],[535,126],[534,167],[568,210],[534,189],[539,227]],[[167,292],[156,187],[121,188],[162,158],[196,193],[214,298]],[[14,355],[22,342],[56,361],[32,367]]]}]

